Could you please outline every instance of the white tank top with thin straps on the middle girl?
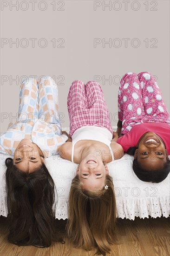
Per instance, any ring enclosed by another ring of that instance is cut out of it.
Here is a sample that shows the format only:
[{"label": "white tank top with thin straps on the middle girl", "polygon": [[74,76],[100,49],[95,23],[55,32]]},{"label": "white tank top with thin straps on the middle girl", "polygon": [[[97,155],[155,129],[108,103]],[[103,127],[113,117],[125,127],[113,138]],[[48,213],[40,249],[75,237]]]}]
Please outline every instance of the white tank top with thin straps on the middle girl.
[{"label": "white tank top with thin straps on the middle girl", "polygon": [[102,128],[98,126],[83,126],[81,128],[78,128],[72,135],[72,162],[74,159],[74,145],[81,140],[103,142],[109,147],[113,161],[114,155],[111,150],[112,136],[113,135],[107,128]]}]

